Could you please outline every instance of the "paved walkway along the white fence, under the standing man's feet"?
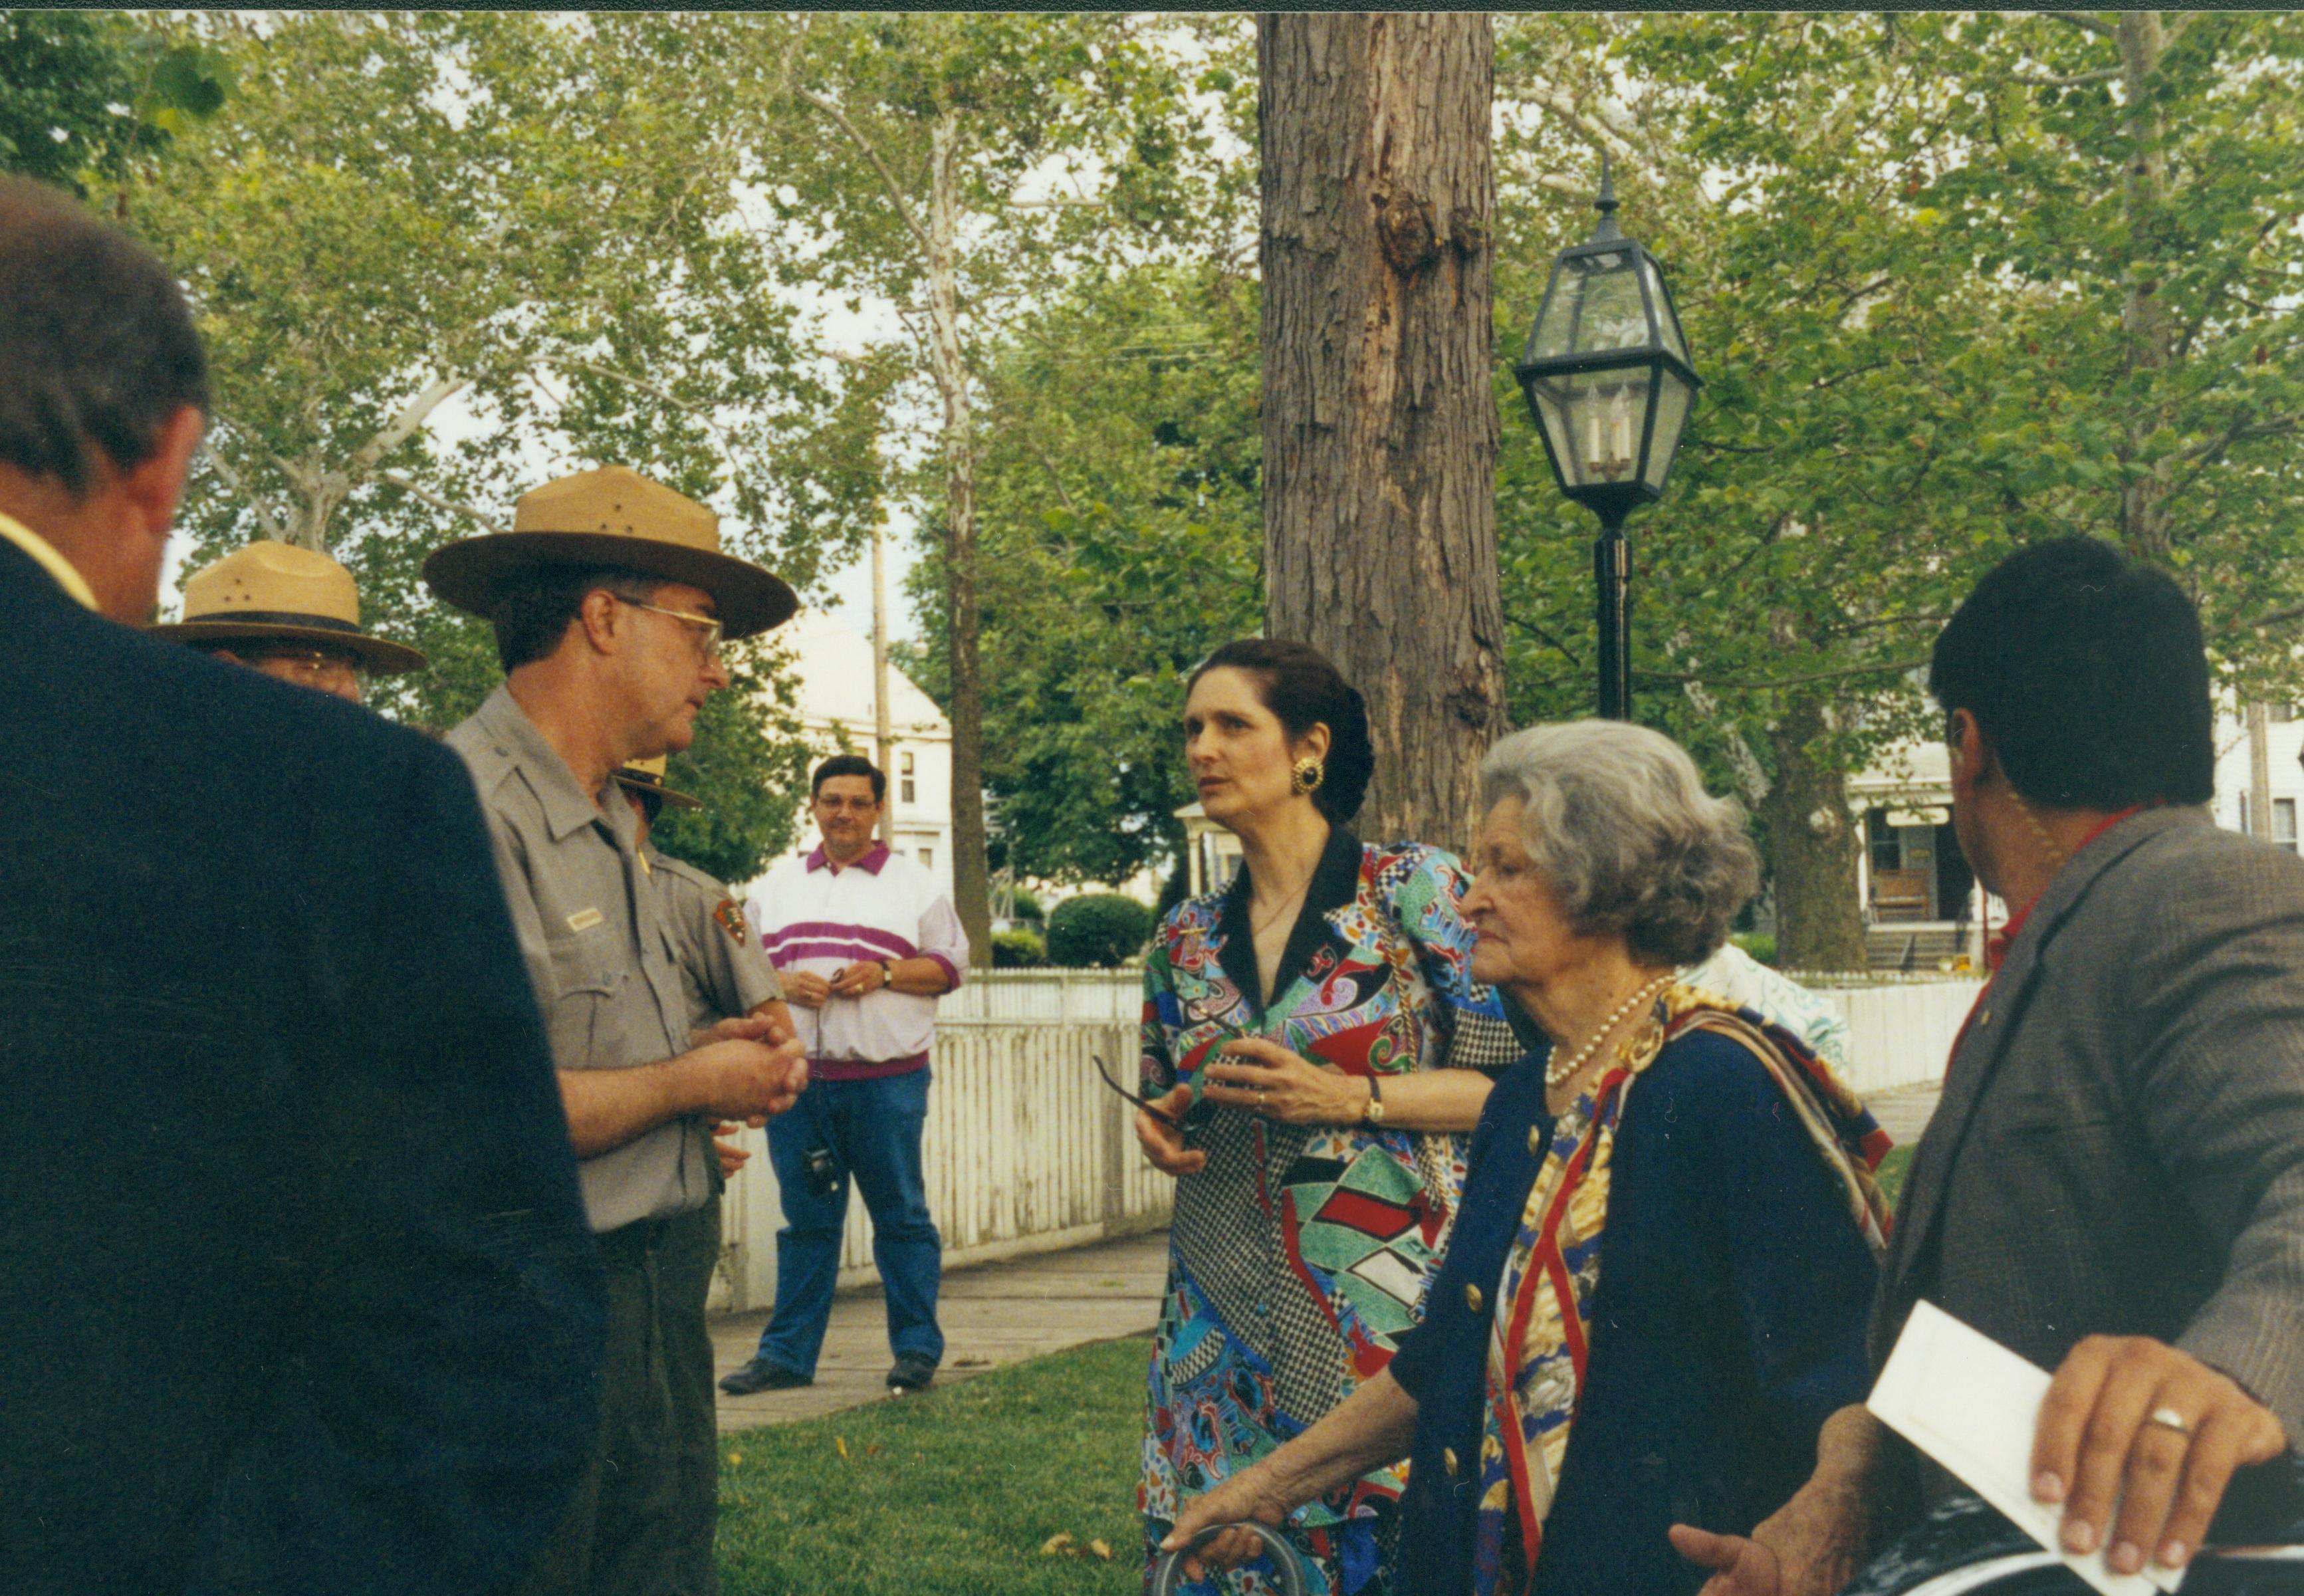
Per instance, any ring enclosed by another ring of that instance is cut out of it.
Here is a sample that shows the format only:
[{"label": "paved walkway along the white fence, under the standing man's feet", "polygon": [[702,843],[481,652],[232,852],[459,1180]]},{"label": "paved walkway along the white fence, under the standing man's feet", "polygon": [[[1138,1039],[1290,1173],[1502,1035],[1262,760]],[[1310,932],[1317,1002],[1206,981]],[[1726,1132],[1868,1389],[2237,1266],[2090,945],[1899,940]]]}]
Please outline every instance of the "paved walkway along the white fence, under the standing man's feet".
[{"label": "paved walkway along the white fence, under the standing man's feet", "polygon": [[[935,1308],[945,1327],[945,1366],[935,1384],[1090,1340],[1145,1336],[1159,1317],[1166,1283],[1166,1230],[954,1269],[945,1276]],[[763,1324],[763,1310],[712,1315],[714,1380],[753,1354]],[[832,1299],[832,1329],[816,1363],[816,1384],[758,1396],[721,1393],[719,1428],[756,1430],[885,1400],[892,1361],[880,1287],[841,1292]]]}]

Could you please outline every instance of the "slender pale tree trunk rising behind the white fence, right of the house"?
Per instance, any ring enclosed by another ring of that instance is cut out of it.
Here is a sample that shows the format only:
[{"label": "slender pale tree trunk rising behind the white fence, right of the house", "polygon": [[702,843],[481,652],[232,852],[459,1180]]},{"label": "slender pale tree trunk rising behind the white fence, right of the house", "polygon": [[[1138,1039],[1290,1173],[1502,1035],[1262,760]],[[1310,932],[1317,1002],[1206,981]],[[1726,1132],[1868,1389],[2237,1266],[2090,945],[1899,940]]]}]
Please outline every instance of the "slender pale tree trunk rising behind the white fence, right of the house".
[{"label": "slender pale tree trunk rising behind the white fence, right of the house", "polygon": [[977,675],[977,426],[961,350],[956,242],[961,117],[942,111],[931,134],[929,364],[945,401],[945,580],[952,606],[952,898],[968,958],[991,970],[993,910],[984,854],[984,689]]}]

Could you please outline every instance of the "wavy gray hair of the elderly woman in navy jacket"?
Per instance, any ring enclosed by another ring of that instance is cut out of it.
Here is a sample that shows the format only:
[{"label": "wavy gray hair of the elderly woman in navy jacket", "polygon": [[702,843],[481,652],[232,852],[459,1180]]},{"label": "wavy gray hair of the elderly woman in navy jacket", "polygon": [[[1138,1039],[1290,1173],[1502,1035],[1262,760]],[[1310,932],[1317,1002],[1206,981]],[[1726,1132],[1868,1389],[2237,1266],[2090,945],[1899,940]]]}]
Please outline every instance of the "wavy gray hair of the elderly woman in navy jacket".
[{"label": "wavy gray hair of the elderly woman in navy jacket", "polygon": [[1760,889],[1744,808],[1705,792],[1696,760],[1629,721],[1511,732],[1479,765],[1481,806],[1521,799],[1528,857],[1583,935],[1696,965]]}]

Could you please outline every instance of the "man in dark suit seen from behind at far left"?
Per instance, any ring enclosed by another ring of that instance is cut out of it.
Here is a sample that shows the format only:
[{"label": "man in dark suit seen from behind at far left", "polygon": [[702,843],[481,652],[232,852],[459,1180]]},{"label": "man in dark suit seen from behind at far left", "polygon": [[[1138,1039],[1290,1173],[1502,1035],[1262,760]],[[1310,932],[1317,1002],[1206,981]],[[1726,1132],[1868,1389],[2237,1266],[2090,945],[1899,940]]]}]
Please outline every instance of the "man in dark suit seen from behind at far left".
[{"label": "man in dark suit seen from behind at far left", "polygon": [[23,180],[0,373],[0,1589],[502,1589],[601,1287],[472,783],[134,629],[205,359]]}]

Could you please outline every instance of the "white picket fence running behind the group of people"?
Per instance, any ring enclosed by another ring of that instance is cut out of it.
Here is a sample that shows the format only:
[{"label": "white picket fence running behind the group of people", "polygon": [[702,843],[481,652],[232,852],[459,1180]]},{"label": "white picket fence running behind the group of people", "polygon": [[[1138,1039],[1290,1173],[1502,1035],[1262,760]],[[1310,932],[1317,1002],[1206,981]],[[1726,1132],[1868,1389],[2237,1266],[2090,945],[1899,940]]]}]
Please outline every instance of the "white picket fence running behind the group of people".
[{"label": "white picket fence running behind the group of people", "polygon": [[[1848,1085],[1864,1096],[1938,1080],[1977,981],[1850,976],[1816,993],[1848,1018]],[[1168,1221],[1170,1181],[1136,1149],[1134,1110],[1099,1080],[1094,1055],[1136,1078],[1143,972],[1000,970],[942,1002],[935,1087],[922,1149],[945,1262],[1044,1253]],[[776,1287],[783,1209],[760,1131],[723,1200],[717,1306],[765,1308]],[[841,1280],[873,1278],[862,1200],[850,1204]]]}]

